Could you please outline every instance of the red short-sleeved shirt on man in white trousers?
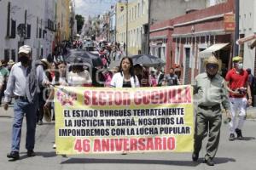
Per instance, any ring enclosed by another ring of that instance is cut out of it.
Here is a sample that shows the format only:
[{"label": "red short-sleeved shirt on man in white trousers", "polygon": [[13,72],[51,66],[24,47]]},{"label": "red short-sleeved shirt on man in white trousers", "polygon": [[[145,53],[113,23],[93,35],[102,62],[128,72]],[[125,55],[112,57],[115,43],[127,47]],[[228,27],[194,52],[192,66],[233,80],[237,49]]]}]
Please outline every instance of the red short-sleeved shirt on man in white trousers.
[{"label": "red short-sleeved shirt on man in white trousers", "polygon": [[[225,80],[227,82],[230,82],[230,89],[235,91],[237,88],[246,88],[246,84],[248,81],[248,73],[245,70],[242,70],[240,74],[236,73],[236,69],[230,70],[227,75]],[[245,97],[246,94],[244,95],[236,95],[236,94],[231,94],[230,97],[233,98],[243,98]]]}]

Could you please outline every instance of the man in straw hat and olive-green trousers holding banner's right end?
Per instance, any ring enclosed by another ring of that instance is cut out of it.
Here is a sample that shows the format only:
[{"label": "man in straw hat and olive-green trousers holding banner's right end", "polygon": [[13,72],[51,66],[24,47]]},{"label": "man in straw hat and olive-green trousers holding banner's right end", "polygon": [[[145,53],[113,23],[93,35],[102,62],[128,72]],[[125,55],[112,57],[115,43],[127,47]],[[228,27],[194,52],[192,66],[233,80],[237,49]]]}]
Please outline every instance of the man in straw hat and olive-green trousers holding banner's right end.
[{"label": "man in straw hat and olive-green trousers holding banner's right end", "polygon": [[207,72],[195,77],[194,94],[197,103],[195,118],[195,143],[192,155],[193,161],[198,160],[202,140],[209,134],[207,143],[207,154],[204,161],[213,166],[212,159],[218,150],[222,113],[220,105],[224,106],[230,117],[230,101],[227,95],[224,78],[218,74],[218,59],[213,55],[206,62]]}]

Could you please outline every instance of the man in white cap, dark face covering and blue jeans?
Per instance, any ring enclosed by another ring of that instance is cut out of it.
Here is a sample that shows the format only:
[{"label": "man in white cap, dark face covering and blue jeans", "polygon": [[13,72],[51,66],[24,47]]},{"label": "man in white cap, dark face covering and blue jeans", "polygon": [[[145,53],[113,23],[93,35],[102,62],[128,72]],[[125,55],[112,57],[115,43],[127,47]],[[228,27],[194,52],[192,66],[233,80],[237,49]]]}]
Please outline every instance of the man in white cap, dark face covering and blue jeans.
[{"label": "man in white cap, dark face covering and blue jeans", "polygon": [[15,95],[11,152],[7,155],[13,161],[20,158],[20,136],[24,116],[26,116],[27,156],[35,156],[33,149],[39,85],[48,84],[43,66],[32,62],[30,46],[24,45],[19,48],[19,60],[20,62],[13,65],[10,71],[7,88],[4,92],[4,110],[8,110],[10,97]]}]

